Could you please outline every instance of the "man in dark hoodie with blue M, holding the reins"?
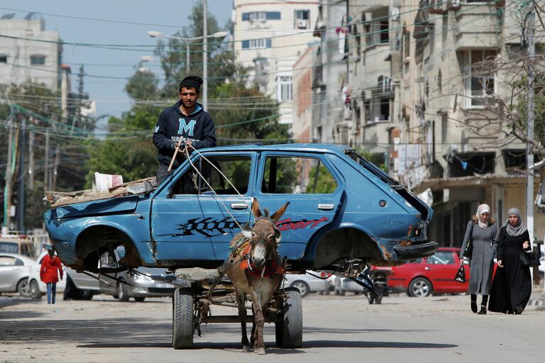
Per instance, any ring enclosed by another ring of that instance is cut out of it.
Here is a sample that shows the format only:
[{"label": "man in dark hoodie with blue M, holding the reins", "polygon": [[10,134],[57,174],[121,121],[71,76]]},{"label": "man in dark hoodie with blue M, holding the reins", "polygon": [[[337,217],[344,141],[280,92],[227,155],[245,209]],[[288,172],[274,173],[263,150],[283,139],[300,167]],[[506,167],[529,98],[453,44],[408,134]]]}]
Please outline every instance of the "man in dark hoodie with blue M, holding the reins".
[{"label": "man in dark hoodie with blue M, holding the reins", "polygon": [[[214,121],[202,104],[197,101],[200,96],[202,78],[197,76],[185,77],[178,87],[180,100],[161,111],[155,131],[153,133],[153,145],[158,150],[159,169],[157,172],[157,184],[163,183],[172,170],[182,164],[185,155],[185,145],[191,145],[195,149],[216,146],[216,130]],[[172,162],[172,170],[168,171],[175,150],[175,160]],[[185,192],[190,193],[192,180],[187,177],[184,186]]]}]

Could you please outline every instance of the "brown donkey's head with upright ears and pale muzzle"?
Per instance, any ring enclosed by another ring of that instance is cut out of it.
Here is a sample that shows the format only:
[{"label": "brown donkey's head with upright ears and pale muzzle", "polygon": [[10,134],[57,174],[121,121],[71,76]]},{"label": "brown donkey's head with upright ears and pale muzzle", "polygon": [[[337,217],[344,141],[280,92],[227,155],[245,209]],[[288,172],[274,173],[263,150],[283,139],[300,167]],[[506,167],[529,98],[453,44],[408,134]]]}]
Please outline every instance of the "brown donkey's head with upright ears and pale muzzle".
[{"label": "brown donkey's head with upright ears and pale muzzle", "polygon": [[284,214],[290,202],[285,203],[272,216],[269,217],[268,211],[261,213],[257,199],[253,199],[252,211],[255,217],[253,228],[244,227],[243,234],[250,238],[252,249],[250,252],[251,262],[260,269],[265,262],[275,256],[276,247],[280,243],[280,230],[276,228],[278,219]]}]

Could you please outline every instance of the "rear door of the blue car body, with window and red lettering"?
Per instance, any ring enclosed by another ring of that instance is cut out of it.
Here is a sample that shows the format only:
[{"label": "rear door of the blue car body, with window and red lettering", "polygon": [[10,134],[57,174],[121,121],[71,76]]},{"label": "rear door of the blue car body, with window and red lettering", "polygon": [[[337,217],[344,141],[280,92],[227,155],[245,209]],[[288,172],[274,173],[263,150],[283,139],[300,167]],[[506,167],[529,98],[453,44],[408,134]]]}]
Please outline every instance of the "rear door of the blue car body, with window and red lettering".
[{"label": "rear door of the blue car body, with window and red lettering", "polygon": [[301,259],[312,235],[330,223],[341,203],[344,181],[331,162],[312,152],[263,152],[255,197],[274,213],[290,206],[278,220],[280,255]]}]

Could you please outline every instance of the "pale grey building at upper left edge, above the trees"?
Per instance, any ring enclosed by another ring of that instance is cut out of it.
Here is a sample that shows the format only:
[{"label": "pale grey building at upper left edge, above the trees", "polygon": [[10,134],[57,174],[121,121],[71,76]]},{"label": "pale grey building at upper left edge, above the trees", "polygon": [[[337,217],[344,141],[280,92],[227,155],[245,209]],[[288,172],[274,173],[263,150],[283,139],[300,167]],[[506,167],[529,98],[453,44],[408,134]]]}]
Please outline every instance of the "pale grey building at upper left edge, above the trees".
[{"label": "pale grey building at upper left edge, above the trees", "polygon": [[43,19],[33,13],[18,19],[8,13],[0,17],[0,84],[32,82],[60,89],[62,45],[56,30],[45,30]]}]

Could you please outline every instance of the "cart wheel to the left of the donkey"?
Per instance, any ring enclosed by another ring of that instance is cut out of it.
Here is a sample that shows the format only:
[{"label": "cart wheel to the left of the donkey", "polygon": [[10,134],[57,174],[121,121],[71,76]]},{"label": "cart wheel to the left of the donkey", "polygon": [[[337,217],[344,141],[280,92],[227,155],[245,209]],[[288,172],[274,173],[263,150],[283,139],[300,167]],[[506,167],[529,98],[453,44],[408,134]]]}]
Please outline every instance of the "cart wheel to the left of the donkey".
[{"label": "cart wheel to the left of the donkey", "polygon": [[175,289],[172,298],[172,347],[193,347],[193,294],[190,289]]}]

